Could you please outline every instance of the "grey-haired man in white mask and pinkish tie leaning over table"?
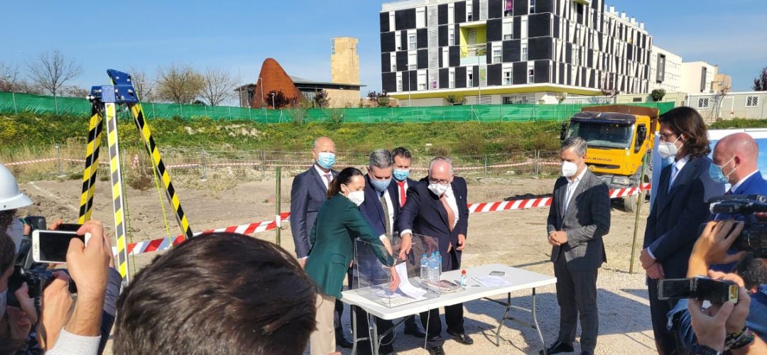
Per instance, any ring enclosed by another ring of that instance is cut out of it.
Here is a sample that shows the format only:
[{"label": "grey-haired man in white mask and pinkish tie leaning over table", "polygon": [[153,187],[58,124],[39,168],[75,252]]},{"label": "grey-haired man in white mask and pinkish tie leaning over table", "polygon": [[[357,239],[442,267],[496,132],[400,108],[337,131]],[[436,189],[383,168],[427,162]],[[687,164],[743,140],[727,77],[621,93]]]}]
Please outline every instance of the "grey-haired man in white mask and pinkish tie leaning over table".
[{"label": "grey-haired man in white mask and pinkish tie leaning over table", "polygon": [[[429,176],[407,190],[407,202],[397,220],[402,235],[400,258],[406,258],[412,247],[412,233],[437,239],[445,271],[461,268],[461,252],[466,246],[469,208],[466,203],[466,180],[453,174],[453,162],[439,156],[429,164]],[[439,310],[420,314],[426,329],[430,353],[443,354],[444,339]],[[428,320],[429,324],[426,324]],[[447,334],[459,343],[472,344],[474,340],[463,328],[463,304],[445,307]]]}]

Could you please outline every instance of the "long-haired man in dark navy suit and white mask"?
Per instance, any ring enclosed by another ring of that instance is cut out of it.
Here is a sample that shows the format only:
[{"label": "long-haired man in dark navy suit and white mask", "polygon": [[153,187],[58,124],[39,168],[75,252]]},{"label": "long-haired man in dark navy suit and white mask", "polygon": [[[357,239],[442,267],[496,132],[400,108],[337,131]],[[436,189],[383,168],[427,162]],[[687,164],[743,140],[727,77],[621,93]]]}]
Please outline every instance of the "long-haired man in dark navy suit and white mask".
[{"label": "long-haired man in dark navy suit and white mask", "polygon": [[650,316],[658,353],[675,353],[677,340],[667,329],[673,304],[658,299],[658,280],[685,278],[699,227],[709,219],[708,200],[724,193],[724,185],[709,174],[708,132],[703,118],[690,107],[676,107],[660,117],[658,153],[674,158],[660,173],[655,202],[647,216],[644,249],[640,255],[647,271]]}]

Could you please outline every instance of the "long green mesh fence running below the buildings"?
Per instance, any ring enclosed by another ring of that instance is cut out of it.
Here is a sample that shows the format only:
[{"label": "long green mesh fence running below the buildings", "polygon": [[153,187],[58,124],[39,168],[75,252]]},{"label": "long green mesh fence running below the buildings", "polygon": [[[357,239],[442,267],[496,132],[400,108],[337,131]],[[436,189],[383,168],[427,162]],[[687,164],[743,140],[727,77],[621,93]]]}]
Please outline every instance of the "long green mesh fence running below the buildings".
[{"label": "long green mesh fence running below the buildings", "polygon": [[[267,110],[248,107],[143,103],[149,119],[177,118],[192,120],[210,117],[214,120],[252,120],[260,123],[303,122],[427,123],[439,121],[516,122],[533,120],[567,120],[582,107],[595,104],[506,104],[458,105],[433,107],[360,107],[333,109]],[[636,106],[657,107],[665,113],[673,102],[640,103]],[[0,92],[0,113],[57,113],[90,115],[91,104],[77,97],[50,97]]]}]

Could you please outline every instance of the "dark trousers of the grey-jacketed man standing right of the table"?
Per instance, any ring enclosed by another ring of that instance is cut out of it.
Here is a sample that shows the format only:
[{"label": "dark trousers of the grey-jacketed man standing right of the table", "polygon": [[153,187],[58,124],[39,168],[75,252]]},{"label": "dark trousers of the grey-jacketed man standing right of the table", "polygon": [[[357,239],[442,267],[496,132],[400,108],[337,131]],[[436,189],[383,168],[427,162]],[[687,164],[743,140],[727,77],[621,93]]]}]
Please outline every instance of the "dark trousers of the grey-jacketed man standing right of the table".
[{"label": "dark trousers of the grey-jacketed man standing right of the table", "polygon": [[[561,249],[561,248],[560,248]],[[571,270],[563,251],[554,263],[559,304],[559,335],[561,343],[573,343],[578,319],[581,320],[581,351],[597,347],[599,311],[597,309],[598,268]]]}]

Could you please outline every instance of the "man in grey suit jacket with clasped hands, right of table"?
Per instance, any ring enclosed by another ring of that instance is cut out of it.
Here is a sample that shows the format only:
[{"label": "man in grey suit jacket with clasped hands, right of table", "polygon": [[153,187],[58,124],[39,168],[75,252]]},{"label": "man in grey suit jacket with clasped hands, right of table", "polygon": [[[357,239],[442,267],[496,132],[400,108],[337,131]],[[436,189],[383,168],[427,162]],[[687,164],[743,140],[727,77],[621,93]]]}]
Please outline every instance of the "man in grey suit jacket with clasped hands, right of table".
[{"label": "man in grey suit jacket with clasped hands, right of table", "polygon": [[[562,177],[554,185],[546,229],[557,277],[559,335],[546,353],[572,352],[578,315],[581,354],[597,346],[597,271],[607,261],[602,237],[610,232],[610,191],[586,169],[586,141],[562,143]],[[544,353],[541,351],[541,353]]]}]

